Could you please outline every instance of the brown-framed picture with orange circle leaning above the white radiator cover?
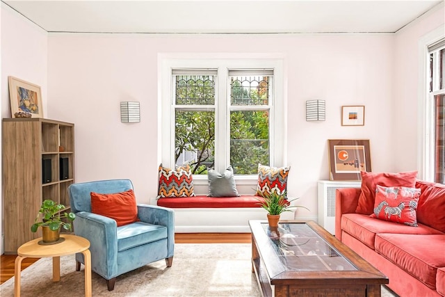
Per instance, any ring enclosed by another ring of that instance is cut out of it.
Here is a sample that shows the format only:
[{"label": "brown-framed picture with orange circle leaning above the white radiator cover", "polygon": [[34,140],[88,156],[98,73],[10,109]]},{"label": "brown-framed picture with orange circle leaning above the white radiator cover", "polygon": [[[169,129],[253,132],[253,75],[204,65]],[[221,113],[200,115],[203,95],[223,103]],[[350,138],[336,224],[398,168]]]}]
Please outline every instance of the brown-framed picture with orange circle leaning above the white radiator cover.
[{"label": "brown-framed picture with orange circle leaning above the white radiator cover", "polygon": [[360,171],[371,171],[368,139],[329,139],[330,180],[361,180]]}]

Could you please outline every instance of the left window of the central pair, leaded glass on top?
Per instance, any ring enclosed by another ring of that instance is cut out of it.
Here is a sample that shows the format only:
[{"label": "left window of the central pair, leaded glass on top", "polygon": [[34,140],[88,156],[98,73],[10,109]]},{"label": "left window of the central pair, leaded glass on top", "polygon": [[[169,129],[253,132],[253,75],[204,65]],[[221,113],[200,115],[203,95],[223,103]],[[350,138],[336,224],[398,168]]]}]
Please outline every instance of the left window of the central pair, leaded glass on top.
[{"label": "left window of the central pair, leaded glass on top", "polygon": [[207,174],[215,161],[216,70],[173,70],[175,165]]}]

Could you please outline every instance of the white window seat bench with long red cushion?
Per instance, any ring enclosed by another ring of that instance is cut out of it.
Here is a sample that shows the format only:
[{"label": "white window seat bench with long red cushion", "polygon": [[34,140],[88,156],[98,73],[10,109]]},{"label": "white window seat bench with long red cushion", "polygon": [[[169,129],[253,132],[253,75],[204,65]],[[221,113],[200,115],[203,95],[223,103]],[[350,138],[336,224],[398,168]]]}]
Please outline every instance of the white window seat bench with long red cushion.
[{"label": "white window seat bench with long red cushion", "polygon": [[[175,210],[177,233],[249,233],[249,220],[266,220],[256,195],[239,197],[154,198],[152,204]],[[293,220],[295,210],[284,211],[282,220]]]}]

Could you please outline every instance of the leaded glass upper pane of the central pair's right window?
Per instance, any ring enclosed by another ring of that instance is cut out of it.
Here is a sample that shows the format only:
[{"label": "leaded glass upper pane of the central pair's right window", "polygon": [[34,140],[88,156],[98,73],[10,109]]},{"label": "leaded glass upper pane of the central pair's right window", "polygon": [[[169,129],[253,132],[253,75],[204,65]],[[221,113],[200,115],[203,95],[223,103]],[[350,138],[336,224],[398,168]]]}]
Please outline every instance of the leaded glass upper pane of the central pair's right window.
[{"label": "leaded glass upper pane of the central pair's right window", "polygon": [[268,105],[272,77],[231,77],[232,105]]}]

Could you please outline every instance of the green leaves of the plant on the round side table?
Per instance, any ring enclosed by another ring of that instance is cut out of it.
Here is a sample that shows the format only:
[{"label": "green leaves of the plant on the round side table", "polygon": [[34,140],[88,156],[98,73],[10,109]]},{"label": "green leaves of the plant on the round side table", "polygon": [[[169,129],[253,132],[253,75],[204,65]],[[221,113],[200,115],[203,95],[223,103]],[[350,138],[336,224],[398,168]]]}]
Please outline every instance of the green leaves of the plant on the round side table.
[{"label": "green leaves of the plant on the round side table", "polygon": [[[44,200],[35,218],[35,223],[31,226],[31,232],[37,232],[40,226],[48,226],[49,229],[53,231],[58,230],[60,226],[63,226],[65,230],[71,230],[71,223],[65,223],[61,219],[67,218],[72,222],[76,218],[76,215],[72,212],[62,213],[64,209],[65,206],[63,204],[58,204],[49,199]],[[40,217],[42,220],[38,222]]]}]

